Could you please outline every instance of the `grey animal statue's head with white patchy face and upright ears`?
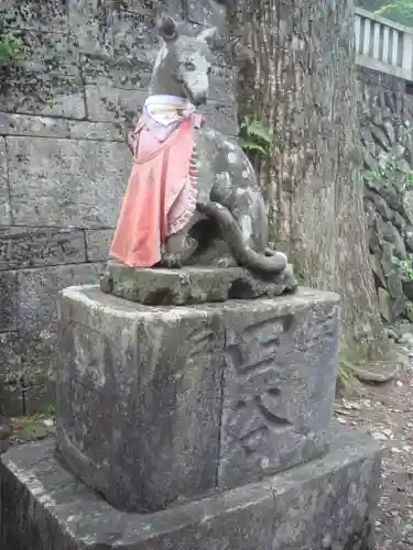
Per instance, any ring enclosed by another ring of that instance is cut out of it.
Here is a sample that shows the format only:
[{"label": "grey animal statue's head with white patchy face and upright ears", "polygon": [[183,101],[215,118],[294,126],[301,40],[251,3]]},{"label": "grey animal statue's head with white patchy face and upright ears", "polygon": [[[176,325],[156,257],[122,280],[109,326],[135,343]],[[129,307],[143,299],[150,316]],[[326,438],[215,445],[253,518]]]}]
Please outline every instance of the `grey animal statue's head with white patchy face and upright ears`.
[{"label": "grey animal statue's head with white patchy face and upright ears", "polygon": [[153,69],[151,94],[187,98],[195,106],[206,102],[211,66],[210,47],[217,29],[202,31],[197,36],[181,35],[171,18],[162,19],[159,35],[163,46]]}]

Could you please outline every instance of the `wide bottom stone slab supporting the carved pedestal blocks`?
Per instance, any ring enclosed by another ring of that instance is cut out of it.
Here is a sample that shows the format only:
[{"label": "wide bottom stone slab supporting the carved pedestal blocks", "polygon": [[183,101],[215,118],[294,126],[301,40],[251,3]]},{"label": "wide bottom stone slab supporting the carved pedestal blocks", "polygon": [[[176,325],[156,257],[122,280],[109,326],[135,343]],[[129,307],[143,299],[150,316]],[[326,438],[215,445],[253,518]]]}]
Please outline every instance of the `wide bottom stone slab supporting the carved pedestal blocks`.
[{"label": "wide bottom stone slab supporting the carved pedestal blocks", "polygon": [[65,471],[54,442],[2,455],[2,550],[371,550],[381,451],[337,426],[332,451],[154,514],[118,512]]}]

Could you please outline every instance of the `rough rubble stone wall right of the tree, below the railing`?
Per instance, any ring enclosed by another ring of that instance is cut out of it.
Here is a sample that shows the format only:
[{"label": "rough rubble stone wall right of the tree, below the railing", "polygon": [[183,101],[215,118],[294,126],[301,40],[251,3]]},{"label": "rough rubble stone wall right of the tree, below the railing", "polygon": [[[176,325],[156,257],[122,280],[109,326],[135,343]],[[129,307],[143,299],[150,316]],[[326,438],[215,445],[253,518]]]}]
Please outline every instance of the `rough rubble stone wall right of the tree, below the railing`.
[{"label": "rough rubble stone wall right of the tree, below the railing", "polygon": [[358,69],[365,206],[380,311],[413,320],[413,96],[404,80]]}]

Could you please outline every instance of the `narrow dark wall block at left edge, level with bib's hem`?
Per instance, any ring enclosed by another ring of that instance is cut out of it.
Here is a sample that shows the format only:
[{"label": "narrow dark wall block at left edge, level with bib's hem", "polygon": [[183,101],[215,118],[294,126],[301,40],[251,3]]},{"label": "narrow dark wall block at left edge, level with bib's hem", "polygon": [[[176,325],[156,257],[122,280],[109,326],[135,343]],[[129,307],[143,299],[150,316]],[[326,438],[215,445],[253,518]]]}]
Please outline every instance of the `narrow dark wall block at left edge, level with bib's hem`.
[{"label": "narrow dark wall block at left edge, level with bib's hem", "polygon": [[86,262],[83,231],[0,228],[0,271]]}]

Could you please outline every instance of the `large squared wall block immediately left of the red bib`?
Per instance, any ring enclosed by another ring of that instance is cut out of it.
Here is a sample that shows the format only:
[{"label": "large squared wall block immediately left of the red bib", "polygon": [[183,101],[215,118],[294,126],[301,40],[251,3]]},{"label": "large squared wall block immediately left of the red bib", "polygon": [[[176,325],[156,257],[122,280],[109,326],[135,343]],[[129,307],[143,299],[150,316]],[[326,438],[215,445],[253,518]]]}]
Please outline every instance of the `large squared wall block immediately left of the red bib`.
[{"label": "large squared wall block immediately left of the red bib", "polygon": [[126,144],[11,136],[8,148],[17,224],[115,227],[131,163]]}]

